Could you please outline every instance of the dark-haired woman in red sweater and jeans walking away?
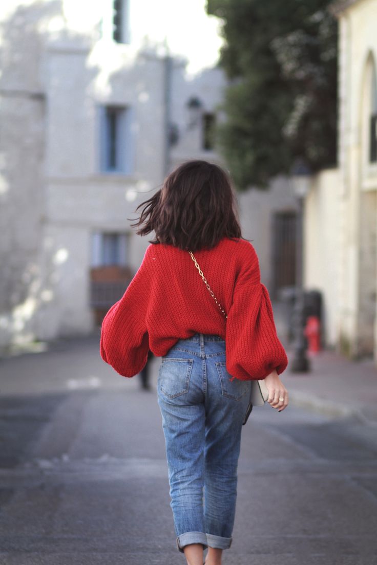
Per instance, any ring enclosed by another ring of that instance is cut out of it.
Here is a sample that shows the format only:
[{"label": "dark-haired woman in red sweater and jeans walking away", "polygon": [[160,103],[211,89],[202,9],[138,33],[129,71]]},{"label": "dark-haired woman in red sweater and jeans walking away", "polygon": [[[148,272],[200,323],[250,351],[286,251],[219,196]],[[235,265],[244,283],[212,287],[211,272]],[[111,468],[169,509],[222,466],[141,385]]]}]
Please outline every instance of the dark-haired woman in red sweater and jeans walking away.
[{"label": "dark-haired woman in red sweater and jeans walking away", "polygon": [[177,549],[202,565],[208,548],[206,565],[220,565],[232,542],[250,381],[265,379],[267,402],[284,410],[288,359],[227,173],[185,162],[138,208],[137,233],[155,239],[103,320],[101,356],[125,377],[141,371],[149,349],[162,357],[157,395]]}]

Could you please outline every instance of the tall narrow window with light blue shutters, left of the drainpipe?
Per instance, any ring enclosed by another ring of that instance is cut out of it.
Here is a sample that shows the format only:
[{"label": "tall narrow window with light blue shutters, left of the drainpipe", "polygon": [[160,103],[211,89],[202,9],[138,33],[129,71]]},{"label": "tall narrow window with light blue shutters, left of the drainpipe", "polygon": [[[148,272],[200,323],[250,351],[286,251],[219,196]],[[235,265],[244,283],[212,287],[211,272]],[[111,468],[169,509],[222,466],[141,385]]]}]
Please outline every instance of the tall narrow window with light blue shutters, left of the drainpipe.
[{"label": "tall narrow window with light blue shutters, left of the drainpipe", "polygon": [[101,171],[131,173],[130,110],[122,106],[101,108]]}]

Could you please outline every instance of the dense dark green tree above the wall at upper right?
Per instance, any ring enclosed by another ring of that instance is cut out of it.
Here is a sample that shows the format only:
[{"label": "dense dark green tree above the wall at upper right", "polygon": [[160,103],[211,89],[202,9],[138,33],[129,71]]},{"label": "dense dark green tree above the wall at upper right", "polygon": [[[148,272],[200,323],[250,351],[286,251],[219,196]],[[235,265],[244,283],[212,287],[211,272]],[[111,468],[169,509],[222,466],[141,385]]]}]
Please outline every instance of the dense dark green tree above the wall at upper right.
[{"label": "dense dark green tree above the wall at upper right", "polygon": [[229,79],[216,145],[236,187],[266,188],[295,158],[336,163],[337,22],[328,0],[207,0]]}]

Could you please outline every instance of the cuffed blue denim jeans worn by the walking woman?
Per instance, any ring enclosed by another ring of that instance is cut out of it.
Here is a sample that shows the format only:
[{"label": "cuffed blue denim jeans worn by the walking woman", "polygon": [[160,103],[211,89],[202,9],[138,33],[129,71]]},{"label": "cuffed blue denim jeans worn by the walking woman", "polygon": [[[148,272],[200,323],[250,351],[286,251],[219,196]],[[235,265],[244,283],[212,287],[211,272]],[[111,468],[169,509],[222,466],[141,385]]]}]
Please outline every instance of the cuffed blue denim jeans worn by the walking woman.
[{"label": "cuffed blue denim jeans worn by the walking woman", "polygon": [[196,333],[162,358],[158,405],[177,548],[231,546],[250,381],[230,380],[225,341]]}]

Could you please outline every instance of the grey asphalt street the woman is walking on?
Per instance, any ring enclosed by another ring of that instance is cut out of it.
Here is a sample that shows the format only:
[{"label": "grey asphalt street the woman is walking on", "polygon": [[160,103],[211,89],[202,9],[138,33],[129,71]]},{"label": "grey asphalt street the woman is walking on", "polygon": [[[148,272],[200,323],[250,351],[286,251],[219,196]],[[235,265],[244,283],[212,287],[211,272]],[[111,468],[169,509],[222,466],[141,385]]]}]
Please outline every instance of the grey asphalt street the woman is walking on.
[{"label": "grey asphalt street the woman is walking on", "polygon": [[[185,563],[158,366],[143,392],[102,362],[97,334],[0,359],[2,565]],[[224,565],[377,564],[376,455],[372,421],[254,408]]]}]

